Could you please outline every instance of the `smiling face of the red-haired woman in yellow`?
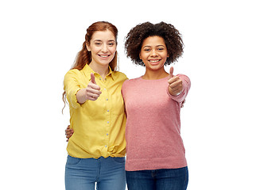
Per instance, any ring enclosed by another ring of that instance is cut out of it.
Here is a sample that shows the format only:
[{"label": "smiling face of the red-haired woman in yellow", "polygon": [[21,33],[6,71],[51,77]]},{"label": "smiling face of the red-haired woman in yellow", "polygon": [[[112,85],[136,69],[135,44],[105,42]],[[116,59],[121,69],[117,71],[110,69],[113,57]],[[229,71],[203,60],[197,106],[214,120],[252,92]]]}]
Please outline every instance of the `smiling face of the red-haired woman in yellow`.
[{"label": "smiling face of the red-haired woman in yellow", "polygon": [[109,30],[94,32],[87,50],[91,51],[91,65],[108,67],[116,51],[114,34]]}]

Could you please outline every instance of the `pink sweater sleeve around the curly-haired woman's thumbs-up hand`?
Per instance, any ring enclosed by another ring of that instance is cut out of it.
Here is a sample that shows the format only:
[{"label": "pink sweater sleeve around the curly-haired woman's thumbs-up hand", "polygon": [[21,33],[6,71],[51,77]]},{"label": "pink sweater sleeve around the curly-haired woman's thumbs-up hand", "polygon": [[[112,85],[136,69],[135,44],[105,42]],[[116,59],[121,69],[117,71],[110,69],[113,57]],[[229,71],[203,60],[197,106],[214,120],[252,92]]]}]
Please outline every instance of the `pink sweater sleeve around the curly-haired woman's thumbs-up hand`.
[{"label": "pink sweater sleeve around the curly-haired woman's thumbs-up hand", "polygon": [[183,85],[182,92],[178,96],[173,96],[169,93],[169,90],[168,90],[168,87],[167,87],[167,93],[173,99],[173,101],[177,101],[181,105],[181,103],[185,100],[185,98],[188,95],[188,91],[190,89],[191,82],[190,82],[190,79],[188,78],[188,76],[186,76],[184,74],[177,74],[177,76],[179,76],[180,79],[182,80],[182,85]]}]

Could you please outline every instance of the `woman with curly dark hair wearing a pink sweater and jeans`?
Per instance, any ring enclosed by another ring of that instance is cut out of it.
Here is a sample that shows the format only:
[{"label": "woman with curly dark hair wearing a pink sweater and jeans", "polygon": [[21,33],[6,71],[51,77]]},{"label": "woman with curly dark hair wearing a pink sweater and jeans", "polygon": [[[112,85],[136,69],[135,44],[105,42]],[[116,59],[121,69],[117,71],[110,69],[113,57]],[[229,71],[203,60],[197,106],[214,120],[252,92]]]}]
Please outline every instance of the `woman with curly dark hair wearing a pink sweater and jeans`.
[{"label": "woman with curly dark hair wearing a pink sweater and jeans", "polygon": [[164,66],[183,53],[180,32],[165,22],[145,22],[126,36],[126,54],[145,67],[122,85],[126,106],[126,182],[129,190],[184,190],[188,166],[180,136],[180,107],[190,89],[184,74]]}]

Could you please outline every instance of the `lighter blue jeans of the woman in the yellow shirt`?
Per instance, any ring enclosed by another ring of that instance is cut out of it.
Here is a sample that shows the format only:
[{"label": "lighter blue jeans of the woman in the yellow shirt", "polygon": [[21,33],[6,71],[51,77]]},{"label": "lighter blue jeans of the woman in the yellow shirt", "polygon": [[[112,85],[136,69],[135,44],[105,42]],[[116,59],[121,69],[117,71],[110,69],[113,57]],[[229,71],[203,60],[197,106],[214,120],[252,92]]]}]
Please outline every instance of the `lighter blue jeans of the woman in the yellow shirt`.
[{"label": "lighter blue jeans of the woman in the yellow shirt", "polygon": [[67,190],[125,190],[125,158],[73,158],[65,170]]}]

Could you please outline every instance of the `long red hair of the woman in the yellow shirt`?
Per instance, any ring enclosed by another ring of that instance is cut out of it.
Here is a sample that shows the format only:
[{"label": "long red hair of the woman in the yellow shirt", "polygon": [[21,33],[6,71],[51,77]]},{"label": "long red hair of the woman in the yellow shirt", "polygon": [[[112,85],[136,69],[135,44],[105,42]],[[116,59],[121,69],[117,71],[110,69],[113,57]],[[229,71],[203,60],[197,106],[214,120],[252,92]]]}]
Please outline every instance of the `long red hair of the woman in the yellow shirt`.
[{"label": "long red hair of the woman in the yellow shirt", "polygon": [[[118,28],[116,28],[114,25],[112,25],[110,22],[107,22],[107,21],[98,21],[98,22],[93,23],[92,25],[90,25],[87,28],[87,33],[85,35],[85,41],[83,42],[83,47],[76,55],[74,65],[72,66],[71,69],[82,70],[86,64],[91,63],[91,51],[87,50],[86,44],[90,45],[91,36],[94,34],[94,32],[106,31],[106,30],[111,31],[114,34],[114,38],[117,43]],[[117,56],[118,56],[118,53],[115,52],[114,58],[112,59],[112,61],[110,63],[111,70],[117,70],[117,60],[118,60]],[[62,100],[64,101],[64,104],[65,104],[66,103],[66,92],[64,92],[62,94]],[[64,105],[64,107],[65,107],[65,105]],[[63,109],[62,109],[62,111],[63,111]]]}]

